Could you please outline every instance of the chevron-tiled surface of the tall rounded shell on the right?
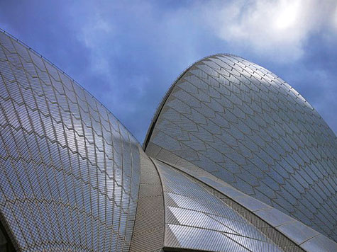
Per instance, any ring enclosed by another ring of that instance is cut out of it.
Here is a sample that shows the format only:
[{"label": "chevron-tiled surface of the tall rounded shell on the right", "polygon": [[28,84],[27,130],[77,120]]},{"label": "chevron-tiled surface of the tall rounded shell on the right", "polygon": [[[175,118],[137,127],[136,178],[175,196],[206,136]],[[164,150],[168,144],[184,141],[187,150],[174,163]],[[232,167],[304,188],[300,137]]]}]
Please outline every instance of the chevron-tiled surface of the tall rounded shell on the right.
[{"label": "chevron-tiled surface of the tall rounded shell on the right", "polygon": [[336,136],[263,67],[233,55],[194,64],[158,109],[150,144],[337,241]]}]

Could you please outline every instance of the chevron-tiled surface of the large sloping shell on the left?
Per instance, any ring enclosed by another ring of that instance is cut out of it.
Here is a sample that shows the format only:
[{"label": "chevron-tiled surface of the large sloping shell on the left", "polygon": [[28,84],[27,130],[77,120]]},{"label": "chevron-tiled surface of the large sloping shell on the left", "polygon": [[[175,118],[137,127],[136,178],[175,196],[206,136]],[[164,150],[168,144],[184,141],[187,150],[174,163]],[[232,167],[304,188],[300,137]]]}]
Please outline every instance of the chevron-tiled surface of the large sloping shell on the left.
[{"label": "chevron-tiled surface of the large sloping shell on the left", "polygon": [[128,251],[140,152],[99,102],[0,33],[0,211],[21,251]]}]

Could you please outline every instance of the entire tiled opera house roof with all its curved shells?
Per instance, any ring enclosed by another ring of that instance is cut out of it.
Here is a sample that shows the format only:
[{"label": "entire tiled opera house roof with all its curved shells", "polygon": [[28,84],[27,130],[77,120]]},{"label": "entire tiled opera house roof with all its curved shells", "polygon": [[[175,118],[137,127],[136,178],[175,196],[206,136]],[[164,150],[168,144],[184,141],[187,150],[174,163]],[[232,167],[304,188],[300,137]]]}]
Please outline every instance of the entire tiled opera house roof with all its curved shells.
[{"label": "entire tiled opera house roof with all its curved shells", "polygon": [[337,138],[235,55],[172,84],[143,147],[0,32],[0,251],[337,251]]}]

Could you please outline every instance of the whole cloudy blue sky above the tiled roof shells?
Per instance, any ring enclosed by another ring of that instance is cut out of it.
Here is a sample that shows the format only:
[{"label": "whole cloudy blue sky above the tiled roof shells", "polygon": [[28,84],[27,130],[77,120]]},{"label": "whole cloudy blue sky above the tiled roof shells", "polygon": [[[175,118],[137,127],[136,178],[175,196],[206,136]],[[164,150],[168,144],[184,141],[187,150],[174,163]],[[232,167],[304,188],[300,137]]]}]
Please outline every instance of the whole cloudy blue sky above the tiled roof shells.
[{"label": "whole cloudy blue sky above the tiled roof shells", "polygon": [[206,55],[270,69],[337,132],[337,1],[1,1],[0,28],[72,76],[143,143],[162,96]]}]

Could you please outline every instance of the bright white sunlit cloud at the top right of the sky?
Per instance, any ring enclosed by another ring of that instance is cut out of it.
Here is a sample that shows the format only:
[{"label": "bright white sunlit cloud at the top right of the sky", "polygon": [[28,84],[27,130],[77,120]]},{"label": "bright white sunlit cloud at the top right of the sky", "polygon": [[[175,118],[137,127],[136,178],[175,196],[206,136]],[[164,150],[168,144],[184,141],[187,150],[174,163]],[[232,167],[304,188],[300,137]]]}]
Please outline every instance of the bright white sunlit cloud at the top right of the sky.
[{"label": "bright white sunlit cloud at the top right of the sky", "polygon": [[302,57],[314,33],[336,33],[336,11],[335,0],[213,1],[204,18],[221,40],[285,62]]}]

